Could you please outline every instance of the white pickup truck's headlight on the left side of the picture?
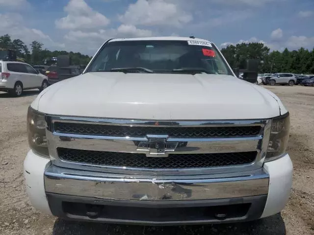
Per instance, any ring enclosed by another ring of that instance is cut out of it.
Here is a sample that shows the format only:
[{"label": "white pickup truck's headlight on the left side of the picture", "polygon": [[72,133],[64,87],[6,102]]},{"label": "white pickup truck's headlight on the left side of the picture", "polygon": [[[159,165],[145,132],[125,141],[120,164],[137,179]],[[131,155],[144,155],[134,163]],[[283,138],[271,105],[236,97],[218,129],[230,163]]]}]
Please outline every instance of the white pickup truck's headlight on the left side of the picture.
[{"label": "white pickup truck's headlight on the left side of the picture", "polygon": [[30,148],[35,153],[49,158],[45,115],[30,106],[27,112],[27,136]]}]

